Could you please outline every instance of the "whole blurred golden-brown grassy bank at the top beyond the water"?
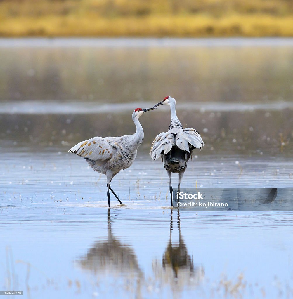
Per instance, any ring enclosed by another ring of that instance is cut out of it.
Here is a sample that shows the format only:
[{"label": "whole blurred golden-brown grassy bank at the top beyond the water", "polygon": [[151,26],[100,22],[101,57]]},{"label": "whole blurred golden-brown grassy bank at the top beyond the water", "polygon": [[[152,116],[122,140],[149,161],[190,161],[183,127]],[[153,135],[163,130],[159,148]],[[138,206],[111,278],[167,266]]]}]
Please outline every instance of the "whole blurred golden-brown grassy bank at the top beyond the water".
[{"label": "whole blurred golden-brown grassy bank at the top beyond the water", "polygon": [[293,36],[293,1],[2,0],[0,36]]}]

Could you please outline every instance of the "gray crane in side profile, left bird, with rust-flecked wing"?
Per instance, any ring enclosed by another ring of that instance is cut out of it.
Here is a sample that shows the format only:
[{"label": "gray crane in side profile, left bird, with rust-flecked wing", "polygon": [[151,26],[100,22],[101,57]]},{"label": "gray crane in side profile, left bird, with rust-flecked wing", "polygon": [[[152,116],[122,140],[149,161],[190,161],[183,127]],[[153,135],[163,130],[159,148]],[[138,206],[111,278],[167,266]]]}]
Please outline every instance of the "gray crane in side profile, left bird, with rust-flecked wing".
[{"label": "gray crane in side profile, left bird, with rust-flecked wing", "polygon": [[133,135],[124,135],[121,137],[93,137],[81,141],[69,152],[75,153],[86,159],[86,162],[98,173],[107,176],[107,196],[110,207],[110,192],[115,195],[120,204],[122,202],[112,190],[110,183],[120,170],[130,167],[137,155],[137,148],[143,140],[143,129],[139,123],[139,116],[143,113],[157,108],[141,109],[136,108],[132,114],[132,120],[136,126],[136,132]]}]

